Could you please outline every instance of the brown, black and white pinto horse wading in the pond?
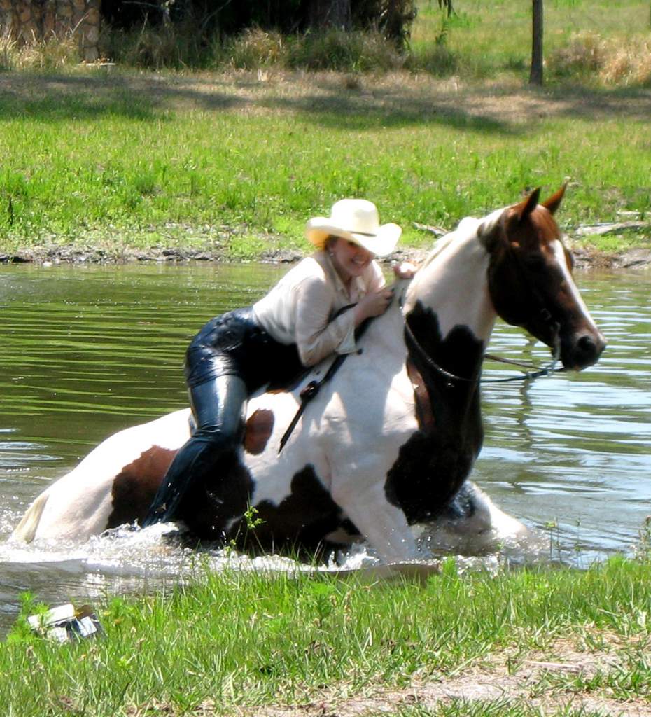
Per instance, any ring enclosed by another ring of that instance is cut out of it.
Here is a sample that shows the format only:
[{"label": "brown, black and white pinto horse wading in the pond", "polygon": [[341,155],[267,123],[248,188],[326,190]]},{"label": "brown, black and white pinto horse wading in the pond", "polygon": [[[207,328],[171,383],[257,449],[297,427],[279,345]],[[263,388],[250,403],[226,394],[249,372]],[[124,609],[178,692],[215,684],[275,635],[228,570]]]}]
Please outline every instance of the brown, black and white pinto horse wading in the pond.
[{"label": "brown, black and white pinto horse wading in the pond", "polygon": [[[564,190],[539,204],[536,189],[439,239],[305,405],[282,452],[301,391],[331,360],[252,397],[241,446],[179,506],[189,533],[252,551],[317,551],[363,536],[391,563],[418,556],[417,524],[490,528],[497,509],[469,475],[483,443],[480,376],[495,319],[545,343],[567,370],[594,364],[606,345],[553,218]],[[34,500],[13,538],[80,540],[142,521],[190,432],[181,409],[108,437]]]}]

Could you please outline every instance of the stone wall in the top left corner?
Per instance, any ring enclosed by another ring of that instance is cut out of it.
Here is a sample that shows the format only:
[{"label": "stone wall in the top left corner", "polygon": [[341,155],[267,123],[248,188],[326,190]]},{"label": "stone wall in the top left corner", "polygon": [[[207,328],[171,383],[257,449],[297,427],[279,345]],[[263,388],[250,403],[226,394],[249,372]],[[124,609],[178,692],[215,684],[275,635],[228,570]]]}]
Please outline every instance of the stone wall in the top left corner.
[{"label": "stone wall in the top left corner", "polygon": [[0,32],[24,44],[77,38],[82,60],[99,57],[101,0],[0,0]]}]

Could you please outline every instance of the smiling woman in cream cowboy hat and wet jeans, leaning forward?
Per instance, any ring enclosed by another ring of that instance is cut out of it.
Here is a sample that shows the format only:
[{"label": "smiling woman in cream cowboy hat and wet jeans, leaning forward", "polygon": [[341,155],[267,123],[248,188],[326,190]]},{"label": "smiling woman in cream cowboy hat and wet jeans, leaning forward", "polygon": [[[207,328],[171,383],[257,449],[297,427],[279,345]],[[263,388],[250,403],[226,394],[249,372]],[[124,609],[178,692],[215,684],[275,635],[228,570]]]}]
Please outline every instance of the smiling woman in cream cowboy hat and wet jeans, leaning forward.
[{"label": "smiling woman in cream cowboy hat and wet jeans, leaning forward", "polygon": [[[176,517],[190,485],[201,484],[220,455],[242,440],[242,412],[257,389],[290,379],[333,353],[356,350],[355,329],[386,311],[391,291],[376,256],[401,234],[380,224],[375,204],[341,199],[305,234],[317,251],[250,308],[210,320],[191,341],[185,373],[196,429],[171,463],[143,526]],[[411,265],[396,275],[409,278]]]}]

